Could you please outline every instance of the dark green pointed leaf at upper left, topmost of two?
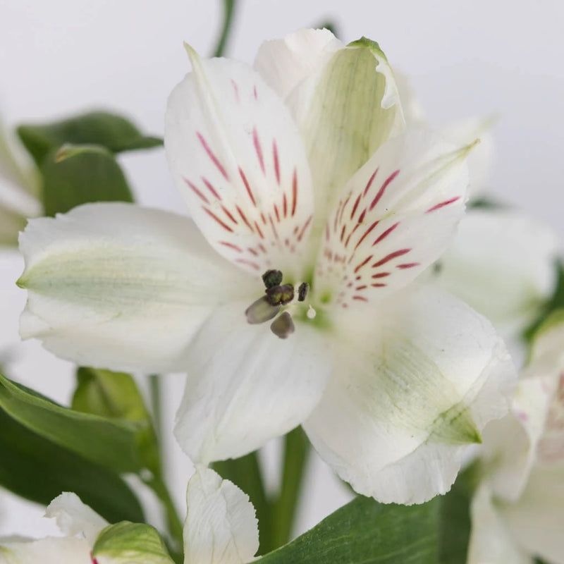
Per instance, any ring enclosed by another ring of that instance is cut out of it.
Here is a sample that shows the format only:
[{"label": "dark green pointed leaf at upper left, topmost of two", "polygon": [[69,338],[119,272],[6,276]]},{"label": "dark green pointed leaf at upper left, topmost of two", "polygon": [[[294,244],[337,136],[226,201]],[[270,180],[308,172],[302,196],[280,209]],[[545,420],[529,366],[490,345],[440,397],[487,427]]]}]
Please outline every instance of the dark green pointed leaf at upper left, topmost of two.
[{"label": "dark green pointed leaf at upper left, topmost of two", "polygon": [[53,149],[66,143],[101,145],[113,153],[162,145],[158,137],[142,135],[131,121],[107,111],[92,111],[52,123],[20,125],[18,135],[38,166]]}]

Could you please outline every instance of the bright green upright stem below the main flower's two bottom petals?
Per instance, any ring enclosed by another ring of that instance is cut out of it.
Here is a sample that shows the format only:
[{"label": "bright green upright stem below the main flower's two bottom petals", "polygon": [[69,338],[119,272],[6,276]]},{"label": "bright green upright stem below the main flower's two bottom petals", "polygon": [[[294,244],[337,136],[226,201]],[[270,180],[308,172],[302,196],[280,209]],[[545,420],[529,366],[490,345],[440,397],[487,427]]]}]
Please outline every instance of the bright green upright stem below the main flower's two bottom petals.
[{"label": "bright green upright stem below the main flower's two bottom petals", "polygon": [[273,549],[290,540],[310,448],[301,427],[286,435],[280,495],[274,503],[271,515]]}]

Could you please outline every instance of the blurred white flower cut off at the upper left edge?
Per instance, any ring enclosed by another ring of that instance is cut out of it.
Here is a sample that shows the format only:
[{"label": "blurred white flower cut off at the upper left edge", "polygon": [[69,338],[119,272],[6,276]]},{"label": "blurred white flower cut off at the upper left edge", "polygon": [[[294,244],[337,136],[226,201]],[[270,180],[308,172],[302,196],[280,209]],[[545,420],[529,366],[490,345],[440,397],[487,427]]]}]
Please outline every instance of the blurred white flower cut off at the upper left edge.
[{"label": "blurred white flower cut off at the upper left edge", "polygon": [[0,119],[0,245],[16,245],[27,217],[37,216],[39,173]]}]

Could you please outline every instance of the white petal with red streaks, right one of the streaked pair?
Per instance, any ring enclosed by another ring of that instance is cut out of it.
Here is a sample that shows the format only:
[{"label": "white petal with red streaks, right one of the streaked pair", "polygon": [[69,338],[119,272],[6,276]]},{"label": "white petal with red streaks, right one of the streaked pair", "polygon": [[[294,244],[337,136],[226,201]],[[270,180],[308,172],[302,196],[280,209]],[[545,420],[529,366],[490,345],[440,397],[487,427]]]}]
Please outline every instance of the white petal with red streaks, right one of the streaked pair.
[{"label": "white petal with red streaks, right one of the streaked pair", "polygon": [[383,145],[329,216],[316,292],[337,305],[381,300],[434,262],[464,212],[469,150],[419,130]]}]

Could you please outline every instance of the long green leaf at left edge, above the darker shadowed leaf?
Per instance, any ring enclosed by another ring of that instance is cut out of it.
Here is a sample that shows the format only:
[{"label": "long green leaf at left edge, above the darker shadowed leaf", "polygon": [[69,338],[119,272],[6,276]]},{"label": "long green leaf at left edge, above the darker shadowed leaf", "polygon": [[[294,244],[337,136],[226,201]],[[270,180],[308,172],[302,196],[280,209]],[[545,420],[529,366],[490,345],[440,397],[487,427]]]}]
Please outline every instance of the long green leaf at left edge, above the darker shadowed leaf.
[{"label": "long green leaf at left edge, above the darker shadowed leaf", "polygon": [[139,443],[147,424],[61,407],[1,375],[0,410],[30,431],[115,472],[144,467]]}]

